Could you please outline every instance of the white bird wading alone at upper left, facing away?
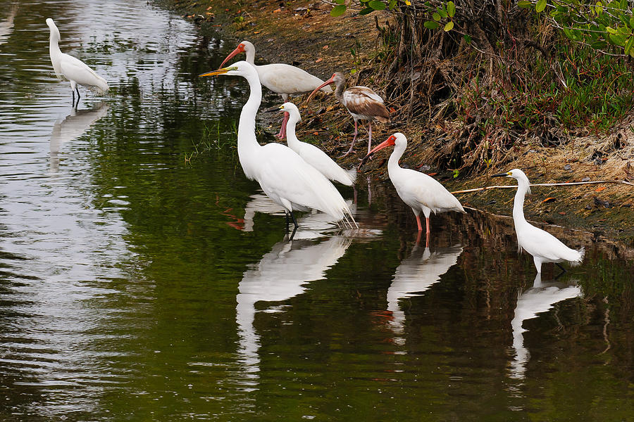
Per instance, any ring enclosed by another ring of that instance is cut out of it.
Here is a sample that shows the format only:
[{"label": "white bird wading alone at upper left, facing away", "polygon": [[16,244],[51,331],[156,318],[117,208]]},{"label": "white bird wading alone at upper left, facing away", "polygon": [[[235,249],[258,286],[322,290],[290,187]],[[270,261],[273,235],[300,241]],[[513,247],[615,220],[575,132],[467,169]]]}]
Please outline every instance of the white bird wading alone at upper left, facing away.
[{"label": "white bird wading alone at upper left, facing away", "polygon": [[55,75],[59,78],[65,77],[70,81],[70,92],[73,93],[73,105],[75,105],[75,91],[77,91],[77,103],[79,103],[80,100],[77,85],[92,87],[101,92],[108,91],[109,87],[106,79],[97,75],[97,72],[89,68],[82,60],[61,52],[58,45],[61,35],[51,18],[46,19],[46,25],[49,25],[49,30],[51,30],[49,54]]}]

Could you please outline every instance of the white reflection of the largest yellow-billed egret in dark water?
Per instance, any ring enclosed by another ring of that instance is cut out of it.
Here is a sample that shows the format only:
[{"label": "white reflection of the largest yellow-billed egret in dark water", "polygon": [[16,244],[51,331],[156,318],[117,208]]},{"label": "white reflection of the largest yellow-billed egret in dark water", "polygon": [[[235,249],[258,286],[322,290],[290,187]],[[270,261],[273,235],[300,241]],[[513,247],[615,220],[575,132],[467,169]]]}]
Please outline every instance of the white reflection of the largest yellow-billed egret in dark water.
[{"label": "white reflection of the largest yellow-billed egret in dark water", "polygon": [[[309,215],[308,217],[311,217]],[[332,217],[331,217],[332,219]],[[306,224],[304,219],[300,224]],[[240,361],[247,374],[247,385],[255,385],[259,372],[260,337],[254,328],[256,303],[274,302],[259,312],[280,312],[283,302],[304,292],[305,284],[325,278],[325,271],[344,255],[352,239],[334,236],[325,241],[301,238],[298,231],[291,241],[288,236],[275,243],[271,252],[244,272],[238,286],[236,321],[240,346]]]}]

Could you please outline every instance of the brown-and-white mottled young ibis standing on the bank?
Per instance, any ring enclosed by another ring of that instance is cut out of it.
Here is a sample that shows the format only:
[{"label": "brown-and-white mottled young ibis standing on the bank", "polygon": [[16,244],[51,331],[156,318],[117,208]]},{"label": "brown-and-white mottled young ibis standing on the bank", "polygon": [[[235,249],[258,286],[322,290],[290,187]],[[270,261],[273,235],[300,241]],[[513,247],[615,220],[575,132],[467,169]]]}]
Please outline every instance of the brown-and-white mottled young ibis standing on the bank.
[{"label": "brown-and-white mottled young ibis standing on the bank", "polygon": [[385,104],[383,104],[383,98],[381,98],[377,93],[369,89],[368,87],[352,87],[345,89],[346,87],[346,78],[341,72],[335,72],[332,74],[332,77],[328,79],[326,82],[317,87],[306,102],[310,101],[313,95],[317,92],[318,89],[322,89],[328,84],[334,83],[337,88],[335,89],[335,96],[339,100],[339,102],[347,108],[348,112],[352,115],[354,119],[354,136],[352,137],[352,143],[350,144],[350,149],[342,155],[345,157],[349,153],[352,153],[352,148],[354,147],[354,141],[356,141],[356,134],[358,132],[357,122],[359,120],[368,120],[368,154],[370,153],[370,148],[372,144],[372,120],[378,120],[381,123],[390,122],[390,113],[385,108]]}]

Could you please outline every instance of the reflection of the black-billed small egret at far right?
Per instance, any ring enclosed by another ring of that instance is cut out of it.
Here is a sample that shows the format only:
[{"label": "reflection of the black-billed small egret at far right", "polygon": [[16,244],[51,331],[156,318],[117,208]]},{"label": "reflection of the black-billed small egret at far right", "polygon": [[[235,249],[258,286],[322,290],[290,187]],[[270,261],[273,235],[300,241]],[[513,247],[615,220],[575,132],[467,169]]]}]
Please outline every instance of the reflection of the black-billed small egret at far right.
[{"label": "reflection of the black-billed small egret at far right", "polygon": [[520,293],[515,306],[515,316],[511,321],[513,328],[513,348],[515,359],[511,362],[511,378],[523,379],[526,364],[530,359],[530,352],[524,347],[524,331],[522,324],[527,319],[537,317],[541,312],[547,312],[554,304],[562,300],[581,296],[579,286],[565,286],[561,283],[542,283],[542,276],[537,273],[533,287]]}]

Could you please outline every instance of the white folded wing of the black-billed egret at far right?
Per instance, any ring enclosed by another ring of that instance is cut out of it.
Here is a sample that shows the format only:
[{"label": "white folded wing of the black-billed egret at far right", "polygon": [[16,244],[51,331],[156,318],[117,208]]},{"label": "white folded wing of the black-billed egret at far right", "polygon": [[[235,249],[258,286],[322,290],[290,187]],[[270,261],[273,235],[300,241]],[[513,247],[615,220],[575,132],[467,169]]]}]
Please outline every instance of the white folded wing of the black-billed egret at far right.
[{"label": "white folded wing of the black-billed egret at far right", "polygon": [[558,238],[532,224],[516,224],[517,241],[521,248],[550,262],[579,261],[583,255],[577,250],[568,248]]}]

